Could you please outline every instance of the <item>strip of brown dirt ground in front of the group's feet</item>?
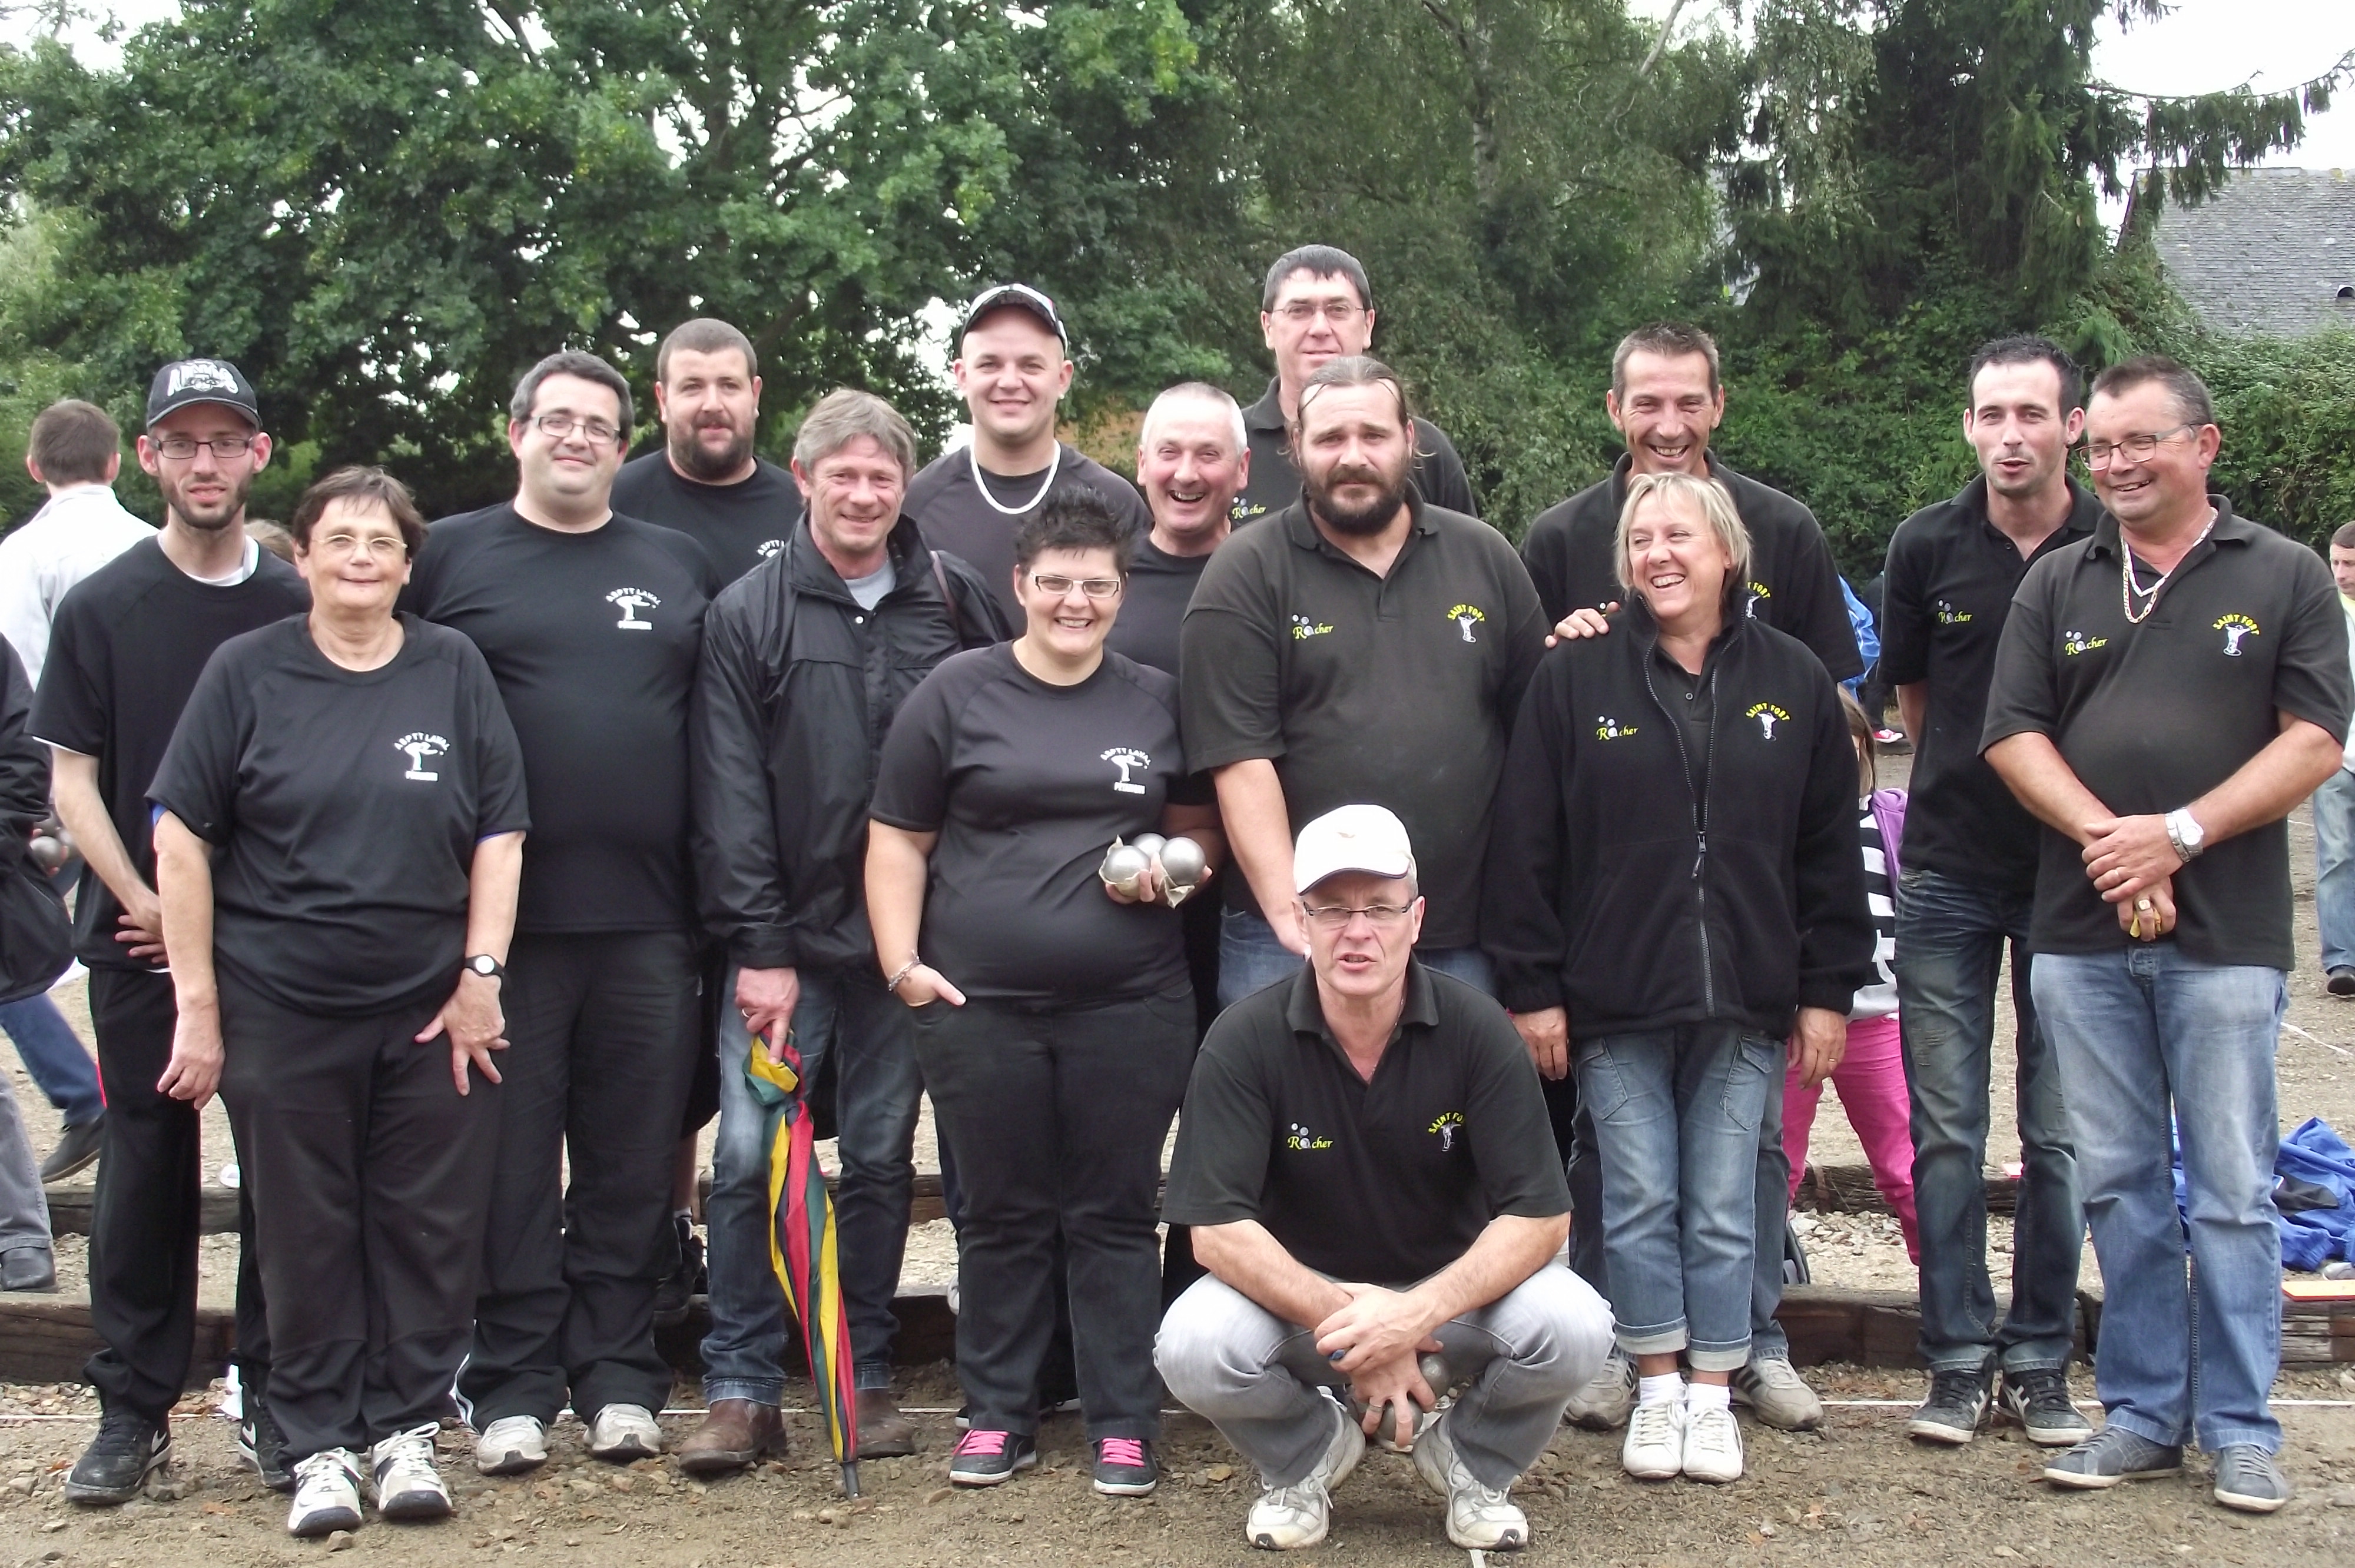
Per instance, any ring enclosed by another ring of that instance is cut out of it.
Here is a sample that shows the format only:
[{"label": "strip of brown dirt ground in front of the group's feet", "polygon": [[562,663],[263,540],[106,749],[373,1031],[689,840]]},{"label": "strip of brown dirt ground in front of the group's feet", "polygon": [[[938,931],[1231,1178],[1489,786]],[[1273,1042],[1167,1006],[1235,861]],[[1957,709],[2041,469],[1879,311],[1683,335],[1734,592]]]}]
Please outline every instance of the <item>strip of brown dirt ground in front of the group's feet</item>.
[{"label": "strip of brown dirt ground in front of the group's feet", "polygon": [[[1835,1398],[1915,1398],[1919,1377],[1825,1368]],[[2084,1394],[2087,1389],[2079,1389]],[[2282,1396],[2355,1401],[2355,1373],[2301,1373]],[[787,1398],[796,1398],[789,1391]],[[947,1368],[904,1389],[909,1403],[954,1406]],[[7,1424],[5,1410],[82,1403],[45,1389],[0,1389],[0,1566],[221,1568],[318,1561],[325,1544],[283,1533],[285,1500],[236,1462],[217,1420],[177,1427],[181,1457],[172,1500],[85,1511],[57,1493],[57,1467],[85,1441],[85,1422]],[[191,1401],[195,1406],[198,1401]],[[2284,1408],[2287,1469],[2298,1497],[2270,1519],[2228,1514],[2207,1497],[2204,1467],[2101,1495],[2054,1493],[2035,1479],[2035,1450],[2016,1431],[1962,1450],[1917,1450],[1900,1410],[1835,1408],[1813,1436],[1745,1424],[1750,1474],[1729,1488],[1646,1486],[1618,1469],[1618,1436],[1564,1431],[1519,1488],[1538,1540],[1524,1563],[1809,1563],[1809,1568],[1922,1563],[2268,1563],[2324,1568],[2355,1561],[2355,1408]],[[671,1417],[674,1434],[688,1417]],[[867,1497],[845,1504],[820,1436],[794,1417],[796,1455],[772,1469],[690,1483],[669,1462],[629,1471],[582,1457],[579,1429],[551,1434],[537,1476],[483,1481],[464,1434],[443,1434],[459,1516],[443,1526],[370,1519],[353,1561],[525,1563],[582,1568],[984,1568],[991,1563],[1269,1563],[1243,1544],[1251,1474],[1206,1424],[1170,1422],[1170,1479],[1140,1502],[1097,1497],[1086,1481],[1083,1434],[1048,1422],[1043,1464],[991,1493],[942,1481],[947,1415],[926,1420],[926,1453],[862,1467]],[[31,1486],[31,1490],[26,1490]],[[1408,1460],[1368,1457],[1338,1495],[1335,1533],[1309,1554],[1324,1563],[1465,1563],[1446,1544],[1439,1504]]]}]

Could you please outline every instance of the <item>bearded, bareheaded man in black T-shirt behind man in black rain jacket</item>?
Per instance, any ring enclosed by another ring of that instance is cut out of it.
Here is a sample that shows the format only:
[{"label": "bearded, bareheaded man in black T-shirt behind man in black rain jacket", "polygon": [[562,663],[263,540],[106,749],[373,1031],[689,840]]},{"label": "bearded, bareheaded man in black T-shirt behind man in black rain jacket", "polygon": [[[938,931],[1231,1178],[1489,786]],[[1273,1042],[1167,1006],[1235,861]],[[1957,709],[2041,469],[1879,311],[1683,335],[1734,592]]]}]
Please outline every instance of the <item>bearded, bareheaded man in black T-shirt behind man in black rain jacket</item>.
[{"label": "bearded, bareheaded man in black T-shirt behind man in black rain jacket", "polygon": [[[633,457],[612,476],[615,511],[688,534],[711,556],[721,582],[735,582],[784,549],[794,518],[801,516],[794,478],[754,452],[761,428],[758,365],[751,339],[723,320],[697,315],[671,327],[655,348],[662,447]],[[706,1285],[702,1243],[695,1238],[695,1222],[702,1217],[695,1144],[721,1109],[725,954],[704,954],[702,977],[704,1038],[671,1170],[671,1217],[662,1238],[671,1264],[655,1293],[657,1323],[685,1318],[688,1300]]]}]

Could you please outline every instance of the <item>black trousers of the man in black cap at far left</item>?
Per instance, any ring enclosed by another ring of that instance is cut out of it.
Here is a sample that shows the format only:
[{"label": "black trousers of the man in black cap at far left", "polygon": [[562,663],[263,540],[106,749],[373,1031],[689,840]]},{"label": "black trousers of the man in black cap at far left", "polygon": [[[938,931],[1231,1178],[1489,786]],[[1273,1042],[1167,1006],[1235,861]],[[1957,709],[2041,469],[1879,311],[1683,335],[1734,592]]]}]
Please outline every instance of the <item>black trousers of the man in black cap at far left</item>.
[{"label": "black trousers of the man in black cap at far left", "polygon": [[[106,1342],[82,1373],[108,1408],[160,1422],[195,1351],[195,1243],[205,1191],[198,1111],[155,1088],[172,1062],[172,977],[89,970],[89,1022],[106,1095],[89,1215],[89,1323]],[[238,1194],[238,1382],[264,1391],[271,1330],[247,1191]],[[210,1373],[207,1373],[210,1377]]]}]

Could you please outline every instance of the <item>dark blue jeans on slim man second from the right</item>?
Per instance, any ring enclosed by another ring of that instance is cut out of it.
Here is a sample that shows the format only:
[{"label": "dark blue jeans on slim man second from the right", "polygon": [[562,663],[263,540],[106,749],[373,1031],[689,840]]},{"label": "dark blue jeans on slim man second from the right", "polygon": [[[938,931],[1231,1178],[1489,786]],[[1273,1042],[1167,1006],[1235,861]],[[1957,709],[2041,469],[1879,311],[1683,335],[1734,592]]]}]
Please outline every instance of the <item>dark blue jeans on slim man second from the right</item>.
[{"label": "dark blue jeans on slim man second from the right", "polygon": [[[2084,1210],[2061,1067],[2028,986],[2032,906],[2032,892],[1973,888],[1938,871],[1898,876],[1898,1031],[1912,1097],[1922,1358],[1933,1370],[1981,1368],[1990,1358],[2006,1373],[2063,1368],[2077,1323]],[[2011,1309],[1997,1326],[1983,1168],[2004,942],[2018,1022],[2021,1194]]]}]

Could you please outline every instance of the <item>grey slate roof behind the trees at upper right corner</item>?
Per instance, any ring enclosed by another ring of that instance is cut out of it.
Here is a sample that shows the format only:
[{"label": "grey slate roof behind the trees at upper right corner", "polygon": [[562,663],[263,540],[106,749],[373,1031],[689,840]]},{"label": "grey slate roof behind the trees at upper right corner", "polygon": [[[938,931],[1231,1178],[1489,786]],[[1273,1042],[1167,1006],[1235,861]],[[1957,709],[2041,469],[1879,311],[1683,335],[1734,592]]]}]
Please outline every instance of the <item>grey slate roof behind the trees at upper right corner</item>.
[{"label": "grey slate roof behind the trees at upper right corner", "polygon": [[2240,170],[2197,207],[2169,202],[2152,242],[2211,332],[2355,327],[2355,170]]}]

